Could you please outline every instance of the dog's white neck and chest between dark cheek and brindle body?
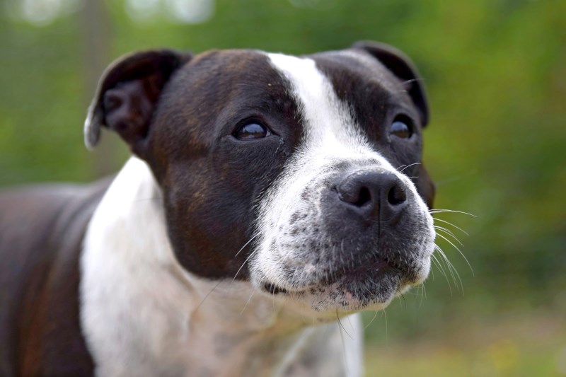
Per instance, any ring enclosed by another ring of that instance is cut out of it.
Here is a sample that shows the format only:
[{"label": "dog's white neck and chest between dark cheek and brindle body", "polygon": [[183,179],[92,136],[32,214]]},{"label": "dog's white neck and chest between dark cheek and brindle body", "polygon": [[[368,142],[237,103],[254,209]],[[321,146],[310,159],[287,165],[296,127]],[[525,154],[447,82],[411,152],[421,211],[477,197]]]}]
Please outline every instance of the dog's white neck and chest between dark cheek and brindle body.
[{"label": "dog's white neck and chest between dark cheek and brindle body", "polygon": [[[308,318],[254,294],[248,282],[207,281],[182,269],[161,191],[137,158],[93,215],[81,270],[81,325],[100,376],[298,373],[298,355],[313,342],[326,343],[327,360],[347,356],[335,323],[308,327]],[[333,374],[343,370],[329,365]]]}]

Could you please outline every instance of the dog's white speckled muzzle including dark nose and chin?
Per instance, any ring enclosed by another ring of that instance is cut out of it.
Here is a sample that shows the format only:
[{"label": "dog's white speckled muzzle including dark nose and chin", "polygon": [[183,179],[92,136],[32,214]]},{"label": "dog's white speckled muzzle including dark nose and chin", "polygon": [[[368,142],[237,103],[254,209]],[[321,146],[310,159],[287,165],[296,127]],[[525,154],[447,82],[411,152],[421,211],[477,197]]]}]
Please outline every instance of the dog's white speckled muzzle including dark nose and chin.
[{"label": "dog's white speckled muzzle including dark nose and chin", "polygon": [[325,171],[300,188],[282,185],[264,207],[274,212],[252,281],[315,311],[386,306],[426,279],[432,217],[405,175],[379,166]]}]

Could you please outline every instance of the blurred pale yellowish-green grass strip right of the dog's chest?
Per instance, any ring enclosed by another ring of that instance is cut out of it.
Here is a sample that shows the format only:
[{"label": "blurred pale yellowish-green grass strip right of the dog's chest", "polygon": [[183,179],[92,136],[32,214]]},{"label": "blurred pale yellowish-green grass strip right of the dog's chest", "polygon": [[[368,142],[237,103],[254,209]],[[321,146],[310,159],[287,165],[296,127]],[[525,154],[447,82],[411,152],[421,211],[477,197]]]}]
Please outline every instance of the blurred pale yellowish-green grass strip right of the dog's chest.
[{"label": "blurred pale yellowish-green grass strip right of the dog's chest", "polygon": [[566,316],[498,318],[366,345],[366,376],[566,376]]}]

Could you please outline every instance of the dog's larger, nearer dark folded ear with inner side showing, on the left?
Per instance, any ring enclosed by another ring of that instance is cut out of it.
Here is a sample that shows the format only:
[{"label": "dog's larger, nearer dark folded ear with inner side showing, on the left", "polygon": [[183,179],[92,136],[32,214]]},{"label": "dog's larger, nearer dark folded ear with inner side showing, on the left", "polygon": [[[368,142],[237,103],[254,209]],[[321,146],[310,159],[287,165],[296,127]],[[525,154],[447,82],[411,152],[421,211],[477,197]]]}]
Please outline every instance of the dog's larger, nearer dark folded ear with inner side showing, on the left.
[{"label": "dog's larger, nearer dark folded ear with inner side showing, on the left", "polygon": [[132,152],[142,155],[154,110],[171,74],[190,54],[150,50],[126,55],[104,71],[84,124],[88,149],[100,139],[100,127],[114,130]]}]

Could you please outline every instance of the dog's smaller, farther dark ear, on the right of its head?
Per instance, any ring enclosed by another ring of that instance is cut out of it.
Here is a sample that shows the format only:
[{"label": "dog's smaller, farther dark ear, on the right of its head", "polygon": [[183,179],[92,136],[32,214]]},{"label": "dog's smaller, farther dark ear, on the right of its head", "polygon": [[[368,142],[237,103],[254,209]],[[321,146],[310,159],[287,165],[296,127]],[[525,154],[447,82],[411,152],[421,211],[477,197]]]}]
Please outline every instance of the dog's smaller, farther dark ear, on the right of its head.
[{"label": "dog's smaller, farther dark ear, on the right of its head", "polygon": [[412,64],[411,60],[403,52],[383,43],[361,41],[354,43],[352,48],[368,52],[403,81],[412,103],[415,104],[420,112],[421,126],[426,126],[429,122],[427,94],[424,92],[424,86],[415,64]]}]

